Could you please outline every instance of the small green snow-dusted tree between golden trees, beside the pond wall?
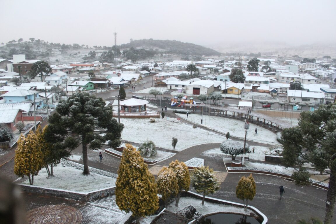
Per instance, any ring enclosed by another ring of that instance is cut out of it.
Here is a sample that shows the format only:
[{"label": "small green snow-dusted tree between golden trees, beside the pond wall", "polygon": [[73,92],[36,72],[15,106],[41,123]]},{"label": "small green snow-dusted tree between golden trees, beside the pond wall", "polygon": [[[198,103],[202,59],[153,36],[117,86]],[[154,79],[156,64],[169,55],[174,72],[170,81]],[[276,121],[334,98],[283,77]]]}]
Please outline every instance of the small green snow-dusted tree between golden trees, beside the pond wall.
[{"label": "small green snow-dusted tree between golden trees, beside the pond wall", "polygon": [[213,194],[220,188],[220,183],[209,167],[200,167],[194,170],[191,179],[192,185],[198,193],[203,194],[202,205],[206,194]]}]

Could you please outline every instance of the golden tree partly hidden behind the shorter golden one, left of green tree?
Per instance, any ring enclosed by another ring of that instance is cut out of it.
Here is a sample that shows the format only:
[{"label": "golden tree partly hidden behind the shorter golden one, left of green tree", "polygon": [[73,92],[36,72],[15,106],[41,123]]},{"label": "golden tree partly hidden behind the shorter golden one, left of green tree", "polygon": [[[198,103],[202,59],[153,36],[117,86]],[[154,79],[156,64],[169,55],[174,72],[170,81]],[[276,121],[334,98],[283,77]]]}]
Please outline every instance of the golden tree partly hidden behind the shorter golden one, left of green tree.
[{"label": "golden tree partly hidden behind the shorter golden one, left of green tree", "polygon": [[183,163],[175,160],[169,164],[169,169],[174,171],[177,178],[178,192],[175,197],[175,206],[178,206],[182,191],[188,191],[190,186],[190,174],[188,167]]}]

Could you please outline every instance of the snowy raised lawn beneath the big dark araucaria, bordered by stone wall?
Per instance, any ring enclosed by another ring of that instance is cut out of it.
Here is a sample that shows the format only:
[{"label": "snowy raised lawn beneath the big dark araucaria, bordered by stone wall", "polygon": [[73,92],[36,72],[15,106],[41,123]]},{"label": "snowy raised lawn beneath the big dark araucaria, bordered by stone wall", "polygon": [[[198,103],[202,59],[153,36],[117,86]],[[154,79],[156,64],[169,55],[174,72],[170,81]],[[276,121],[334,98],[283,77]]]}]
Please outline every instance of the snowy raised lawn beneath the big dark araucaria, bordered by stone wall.
[{"label": "snowy raised lawn beneath the big dark araucaria, bordered by stone wall", "polygon": [[[45,169],[34,176],[34,186],[88,193],[116,185],[116,174],[90,168],[89,175],[83,175],[83,166],[64,161],[53,168],[54,177],[48,177]],[[23,182],[29,184],[29,180]]]}]

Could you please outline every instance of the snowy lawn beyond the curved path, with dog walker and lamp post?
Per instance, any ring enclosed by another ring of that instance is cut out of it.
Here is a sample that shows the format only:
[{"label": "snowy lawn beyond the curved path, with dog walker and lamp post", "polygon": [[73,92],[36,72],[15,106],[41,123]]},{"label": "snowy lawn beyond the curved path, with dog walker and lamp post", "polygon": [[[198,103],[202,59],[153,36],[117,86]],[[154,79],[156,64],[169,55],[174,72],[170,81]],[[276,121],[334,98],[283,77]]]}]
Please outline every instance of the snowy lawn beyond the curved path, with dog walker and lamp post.
[{"label": "snowy lawn beyond the curved path, with dog walker and lamp post", "polygon": [[[201,119],[203,119],[203,125],[205,127],[222,132],[224,134],[229,132],[230,136],[233,137],[238,137],[241,139],[245,138],[244,121],[213,116],[209,118],[209,116],[202,116],[198,114],[190,114],[188,118],[186,118],[185,114],[176,113],[176,115],[196,124],[201,124]],[[258,131],[257,136],[255,136],[255,129]],[[277,140],[276,133],[251,123],[250,128],[247,131],[246,139],[265,144],[280,144]],[[222,138],[222,140],[224,139]]]}]

